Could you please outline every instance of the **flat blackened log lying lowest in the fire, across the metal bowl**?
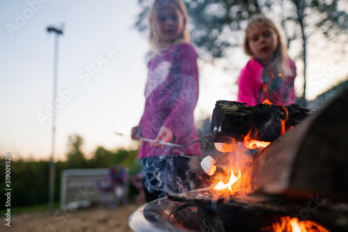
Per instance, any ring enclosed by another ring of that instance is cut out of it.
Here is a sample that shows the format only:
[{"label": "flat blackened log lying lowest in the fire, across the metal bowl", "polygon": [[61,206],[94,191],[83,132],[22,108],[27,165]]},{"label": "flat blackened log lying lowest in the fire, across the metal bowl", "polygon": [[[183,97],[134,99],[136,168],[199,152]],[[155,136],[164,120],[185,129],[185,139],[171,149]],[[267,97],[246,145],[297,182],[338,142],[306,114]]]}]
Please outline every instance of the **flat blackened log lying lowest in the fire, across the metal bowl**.
[{"label": "flat blackened log lying lowest in the fire, across the metal bowl", "polygon": [[[198,218],[209,218],[209,215],[214,212],[214,219],[218,219],[219,224],[223,223],[225,231],[273,231],[271,229],[267,230],[267,227],[277,222],[280,217],[285,216],[298,217],[300,220],[311,220],[326,227],[329,231],[348,231],[347,203],[326,201],[319,204],[319,202],[313,202],[310,198],[289,199],[265,194],[254,194],[245,199],[231,196],[226,201],[226,197],[223,196],[216,199],[216,196],[211,194],[209,190],[194,190],[189,193],[173,194],[169,195],[168,199],[188,202],[191,206],[196,206],[198,208]],[[309,201],[310,206],[308,206]],[[315,203],[318,205],[315,205]],[[308,207],[310,207],[310,211]],[[314,208],[315,210],[313,210]],[[211,224],[213,228],[216,228],[214,222],[211,222]],[[209,225],[206,223],[204,228]]]}]

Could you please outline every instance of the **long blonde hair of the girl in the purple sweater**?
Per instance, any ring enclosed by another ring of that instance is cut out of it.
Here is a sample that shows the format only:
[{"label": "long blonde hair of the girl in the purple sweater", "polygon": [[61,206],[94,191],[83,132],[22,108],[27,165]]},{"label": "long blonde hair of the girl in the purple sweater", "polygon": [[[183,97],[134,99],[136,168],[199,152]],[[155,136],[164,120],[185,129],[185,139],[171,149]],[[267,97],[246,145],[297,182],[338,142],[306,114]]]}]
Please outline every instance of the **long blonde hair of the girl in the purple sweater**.
[{"label": "long blonde hair of the girl in the purple sweater", "polygon": [[184,29],[182,30],[182,35],[179,38],[177,38],[177,40],[175,40],[173,44],[175,45],[180,44],[182,42],[190,42],[189,30],[187,29],[188,15],[184,2],[182,0],[155,0],[150,10],[149,17],[149,42],[152,53],[158,53],[162,49],[166,48],[162,44],[161,38],[157,31],[157,24],[159,20],[158,12],[159,10],[161,10],[161,8],[166,7],[166,5],[171,5],[173,8],[175,8],[175,10],[182,14],[182,17],[184,17]]}]

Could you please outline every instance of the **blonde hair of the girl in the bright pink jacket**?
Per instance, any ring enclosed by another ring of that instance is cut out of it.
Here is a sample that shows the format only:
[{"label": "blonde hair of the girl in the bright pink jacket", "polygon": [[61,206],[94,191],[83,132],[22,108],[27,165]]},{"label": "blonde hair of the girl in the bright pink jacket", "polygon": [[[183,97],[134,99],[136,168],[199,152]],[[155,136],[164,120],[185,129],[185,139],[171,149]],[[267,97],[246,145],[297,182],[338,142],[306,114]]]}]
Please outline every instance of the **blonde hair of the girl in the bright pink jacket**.
[{"label": "blonde hair of the girl in the bright pink jacket", "polygon": [[254,16],[251,21],[248,23],[248,26],[246,26],[245,29],[245,36],[244,36],[244,42],[243,42],[243,49],[244,53],[248,56],[253,56],[251,49],[249,47],[249,34],[251,31],[257,29],[259,26],[269,26],[275,33],[278,38],[278,47],[275,52],[274,59],[280,59],[280,63],[277,64],[278,69],[282,73],[282,77],[288,77],[292,75],[292,70],[290,68],[289,63],[289,55],[287,54],[287,47],[285,46],[285,43],[283,42],[283,38],[280,35],[280,32],[278,30],[278,27],[276,26],[276,23],[269,19],[268,17],[264,15],[256,15]]}]

